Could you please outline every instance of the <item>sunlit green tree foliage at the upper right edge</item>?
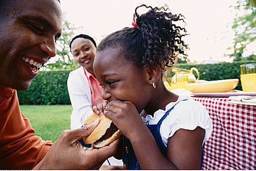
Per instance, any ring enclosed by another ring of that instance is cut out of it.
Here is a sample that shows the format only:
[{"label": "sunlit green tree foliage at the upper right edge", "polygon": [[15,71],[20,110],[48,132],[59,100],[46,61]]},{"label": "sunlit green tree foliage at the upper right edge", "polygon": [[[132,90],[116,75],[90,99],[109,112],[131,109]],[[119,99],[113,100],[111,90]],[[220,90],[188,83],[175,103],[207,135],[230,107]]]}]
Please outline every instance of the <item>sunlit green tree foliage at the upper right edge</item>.
[{"label": "sunlit green tree foliage at the upper right edge", "polygon": [[236,15],[232,29],[235,31],[233,53],[234,61],[256,60],[256,55],[245,56],[246,46],[256,43],[256,0],[238,0],[233,8],[243,11],[243,15]]}]

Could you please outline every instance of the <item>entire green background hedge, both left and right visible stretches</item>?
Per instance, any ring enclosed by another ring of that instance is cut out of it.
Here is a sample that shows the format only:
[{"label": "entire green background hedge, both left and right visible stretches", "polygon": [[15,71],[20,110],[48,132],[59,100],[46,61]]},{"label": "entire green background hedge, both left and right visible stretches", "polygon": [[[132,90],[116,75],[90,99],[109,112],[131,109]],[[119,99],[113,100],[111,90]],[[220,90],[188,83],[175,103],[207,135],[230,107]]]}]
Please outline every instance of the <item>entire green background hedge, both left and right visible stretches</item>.
[{"label": "entire green background hedge, both left and right visible stretches", "polygon": [[[176,64],[176,67],[190,69],[196,67],[201,80],[239,79],[236,89],[242,90],[240,83],[240,64],[256,63],[256,61],[219,63],[219,64]],[[21,105],[67,105],[70,99],[67,90],[67,78],[71,70],[39,71],[26,91],[18,91]],[[194,73],[196,75],[196,73]],[[171,77],[171,69],[167,76]]]}]

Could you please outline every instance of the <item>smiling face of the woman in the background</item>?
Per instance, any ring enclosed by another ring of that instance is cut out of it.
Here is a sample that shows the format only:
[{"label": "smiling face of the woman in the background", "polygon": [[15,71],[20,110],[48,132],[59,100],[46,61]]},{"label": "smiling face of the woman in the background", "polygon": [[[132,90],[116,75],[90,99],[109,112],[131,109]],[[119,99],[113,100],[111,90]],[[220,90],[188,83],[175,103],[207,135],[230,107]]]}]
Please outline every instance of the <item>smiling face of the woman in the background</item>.
[{"label": "smiling face of the woman in the background", "polygon": [[72,42],[71,53],[75,60],[89,72],[93,72],[93,62],[96,54],[94,44],[85,38],[77,38]]}]

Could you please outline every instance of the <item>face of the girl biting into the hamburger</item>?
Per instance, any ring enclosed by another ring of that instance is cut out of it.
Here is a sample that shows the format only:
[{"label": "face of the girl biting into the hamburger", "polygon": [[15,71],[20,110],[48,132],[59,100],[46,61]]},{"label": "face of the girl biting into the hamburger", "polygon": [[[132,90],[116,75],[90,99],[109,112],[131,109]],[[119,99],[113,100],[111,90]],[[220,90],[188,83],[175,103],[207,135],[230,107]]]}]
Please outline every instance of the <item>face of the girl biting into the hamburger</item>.
[{"label": "face of the girl biting into the hamburger", "polygon": [[104,87],[104,100],[131,101],[139,112],[146,106],[147,89],[152,86],[146,81],[146,68],[138,68],[126,60],[119,49],[97,52],[94,72]]}]

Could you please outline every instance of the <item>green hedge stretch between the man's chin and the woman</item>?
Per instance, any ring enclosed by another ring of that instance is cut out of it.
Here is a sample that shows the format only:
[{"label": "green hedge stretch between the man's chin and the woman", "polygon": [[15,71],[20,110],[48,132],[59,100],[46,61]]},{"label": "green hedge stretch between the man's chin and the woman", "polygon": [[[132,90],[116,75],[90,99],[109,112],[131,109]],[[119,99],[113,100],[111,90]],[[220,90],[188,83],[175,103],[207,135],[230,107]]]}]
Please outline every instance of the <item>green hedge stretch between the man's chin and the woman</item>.
[{"label": "green hedge stretch between the man's chin and the woman", "polygon": [[67,78],[71,70],[39,71],[31,86],[18,91],[21,105],[67,105],[70,99]]}]

